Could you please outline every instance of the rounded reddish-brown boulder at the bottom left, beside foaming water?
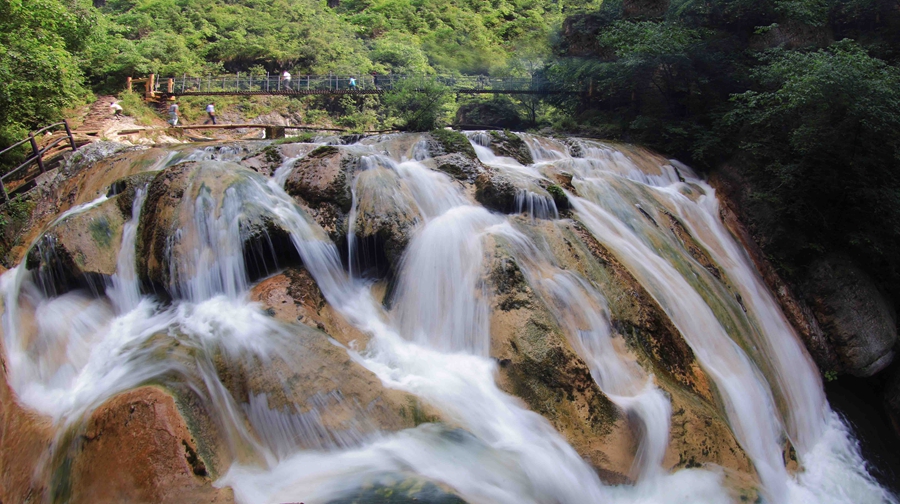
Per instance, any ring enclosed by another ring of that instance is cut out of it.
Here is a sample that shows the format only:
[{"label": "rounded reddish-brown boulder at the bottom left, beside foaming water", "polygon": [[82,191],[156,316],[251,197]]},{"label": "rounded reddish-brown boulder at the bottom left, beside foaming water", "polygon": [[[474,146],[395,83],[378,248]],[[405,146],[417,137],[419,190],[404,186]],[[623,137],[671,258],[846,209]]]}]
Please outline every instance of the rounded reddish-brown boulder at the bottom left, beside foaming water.
[{"label": "rounded reddish-brown boulder at the bottom left, beside foaming water", "polygon": [[[174,398],[156,387],[98,408],[56,481],[66,502],[233,502],[216,489]],[[127,447],[127,449],[123,449]]]}]

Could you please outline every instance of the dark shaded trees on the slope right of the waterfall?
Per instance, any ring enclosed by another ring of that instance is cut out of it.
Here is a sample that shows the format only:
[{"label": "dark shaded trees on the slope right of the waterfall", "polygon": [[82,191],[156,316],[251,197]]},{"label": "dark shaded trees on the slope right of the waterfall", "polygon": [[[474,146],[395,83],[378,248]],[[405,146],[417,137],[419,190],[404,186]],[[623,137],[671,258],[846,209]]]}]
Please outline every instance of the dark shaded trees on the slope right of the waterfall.
[{"label": "dark shaded trees on the slope right of the waterfall", "polygon": [[788,276],[853,257],[900,299],[900,9],[878,0],[608,1],[563,25],[571,127],[736,174]]}]

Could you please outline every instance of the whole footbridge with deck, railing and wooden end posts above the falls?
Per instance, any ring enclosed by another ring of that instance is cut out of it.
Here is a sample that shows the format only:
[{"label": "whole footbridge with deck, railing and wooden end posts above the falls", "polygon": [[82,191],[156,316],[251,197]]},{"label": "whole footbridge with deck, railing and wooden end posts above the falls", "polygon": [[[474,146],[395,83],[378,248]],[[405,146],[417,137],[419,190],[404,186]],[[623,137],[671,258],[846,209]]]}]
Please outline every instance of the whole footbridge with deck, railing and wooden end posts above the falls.
[{"label": "whole footbridge with deck, railing and wooden end posts above the falls", "polygon": [[[283,78],[277,74],[253,75],[235,73],[229,75],[192,77],[128,78],[126,87],[134,91],[136,84],[144,85],[148,99],[173,96],[252,96],[252,95],[367,95],[382,94],[399,87],[424,90],[437,83],[457,94],[508,94],[551,95],[590,94],[587,89],[560,86],[547,79],[532,77],[489,77],[485,75],[299,75]],[[411,85],[411,86],[410,86]]]}]

